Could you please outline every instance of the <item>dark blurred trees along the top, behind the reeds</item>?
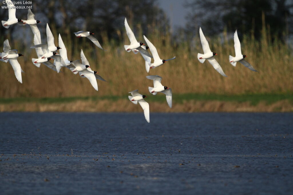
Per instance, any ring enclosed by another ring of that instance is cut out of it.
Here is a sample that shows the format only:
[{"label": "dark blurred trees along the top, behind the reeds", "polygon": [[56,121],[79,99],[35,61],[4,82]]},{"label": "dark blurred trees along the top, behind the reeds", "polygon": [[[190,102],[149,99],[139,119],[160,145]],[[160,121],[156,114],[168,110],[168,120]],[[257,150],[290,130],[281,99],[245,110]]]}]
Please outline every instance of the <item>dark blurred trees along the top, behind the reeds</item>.
[{"label": "dark blurred trees along the top, behind the reeds", "polygon": [[[130,24],[141,24],[143,32],[147,26],[156,24],[161,31],[168,31],[170,24],[164,10],[156,6],[156,0],[59,0],[33,1],[33,13],[44,23],[49,23],[58,32],[70,34],[79,30],[90,30],[97,35],[107,35],[109,39],[121,41],[120,31],[124,33],[125,17]],[[199,26],[205,29],[207,35],[214,35],[235,29],[250,33],[256,39],[261,38],[263,20],[272,39],[282,41],[293,32],[293,1],[292,0],[193,0],[182,1],[190,8],[186,15],[186,27],[175,31],[195,36]],[[174,11],[180,11],[176,8]],[[1,10],[0,17],[5,20],[8,10]],[[18,18],[26,19],[27,10],[19,9]],[[265,18],[264,18],[265,17]],[[17,28],[11,26],[8,30],[0,28],[1,39]],[[135,29],[134,29],[135,30]],[[189,37],[190,38],[190,37]]]}]

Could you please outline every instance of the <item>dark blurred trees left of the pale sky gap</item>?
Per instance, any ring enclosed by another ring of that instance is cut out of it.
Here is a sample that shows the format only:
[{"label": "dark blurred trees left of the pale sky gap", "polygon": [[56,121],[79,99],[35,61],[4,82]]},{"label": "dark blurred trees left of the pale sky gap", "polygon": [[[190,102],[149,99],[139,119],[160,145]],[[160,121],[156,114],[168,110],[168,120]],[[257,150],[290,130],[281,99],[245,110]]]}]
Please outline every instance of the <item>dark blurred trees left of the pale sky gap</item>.
[{"label": "dark blurred trees left of the pale sky gap", "polygon": [[[42,25],[49,23],[61,34],[71,34],[79,30],[91,31],[100,35],[106,33],[108,38],[118,38],[117,30],[125,32],[124,18],[128,23],[141,24],[145,31],[151,23],[157,26],[168,25],[164,12],[155,5],[156,0],[33,0],[33,13]],[[26,19],[27,10],[17,10],[16,16]],[[0,13],[8,18],[8,10]],[[16,27],[11,26],[9,33]],[[4,29],[1,27],[1,31]],[[42,30],[42,29],[40,29]],[[44,32],[44,30],[42,30]],[[41,33],[42,33],[41,32]]]}]

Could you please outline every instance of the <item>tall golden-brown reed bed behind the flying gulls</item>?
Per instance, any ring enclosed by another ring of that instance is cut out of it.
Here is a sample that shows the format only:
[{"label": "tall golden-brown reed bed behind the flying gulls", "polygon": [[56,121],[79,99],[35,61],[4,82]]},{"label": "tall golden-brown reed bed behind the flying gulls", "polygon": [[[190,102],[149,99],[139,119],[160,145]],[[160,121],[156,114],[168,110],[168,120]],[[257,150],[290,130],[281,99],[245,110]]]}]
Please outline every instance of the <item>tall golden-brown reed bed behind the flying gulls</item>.
[{"label": "tall golden-brown reed bed behind the flying gulls", "polygon": [[[144,40],[140,25],[135,27],[137,40]],[[201,64],[197,60],[197,53],[202,53],[198,36],[189,41],[174,42],[171,34],[166,31],[156,29],[154,25],[149,26],[148,29],[145,35],[156,46],[161,58],[176,56],[175,60],[151,69],[149,73],[145,70],[144,59],[140,54],[125,51],[123,45],[129,44],[129,40],[124,31],[117,31],[119,41],[103,38],[102,46],[107,51],[97,48],[86,38],[78,39],[61,34],[69,60],[80,59],[80,50],[83,49],[92,70],[98,71],[99,75],[108,81],[107,83],[97,80],[98,92],[86,78],[74,75],[66,68],[61,69],[62,73],[56,73],[45,65],[37,68],[31,61],[31,58],[36,57],[35,50],[9,39],[12,49],[18,49],[19,53],[24,55],[18,58],[18,61],[25,73],[22,73],[23,84],[21,84],[16,80],[11,65],[0,62],[0,97],[127,96],[127,92],[135,89],[147,95],[148,86],[153,85],[152,80],[145,77],[147,75],[163,77],[162,84],[171,87],[173,93],[177,94],[293,92],[292,49],[277,39],[274,42],[269,41],[271,39],[265,29],[263,39],[260,41],[254,40],[253,36],[249,35],[240,38],[242,53],[248,56],[246,60],[259,72],[253,72],[240,63],[237,63],[236,67],[229,63],[229,55],[234,56],[235,52],[233,39],[228,39],[226,32],[222,37],[206,35],[211,50],[218,54],[216,59],[228,77],[217,73],[207,61]],[[52,32],[58,45],[58,34],[54,28]],[[102,37],[107,36],[102,35]]]}]

